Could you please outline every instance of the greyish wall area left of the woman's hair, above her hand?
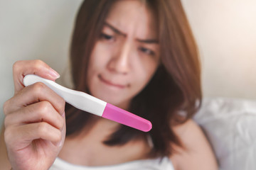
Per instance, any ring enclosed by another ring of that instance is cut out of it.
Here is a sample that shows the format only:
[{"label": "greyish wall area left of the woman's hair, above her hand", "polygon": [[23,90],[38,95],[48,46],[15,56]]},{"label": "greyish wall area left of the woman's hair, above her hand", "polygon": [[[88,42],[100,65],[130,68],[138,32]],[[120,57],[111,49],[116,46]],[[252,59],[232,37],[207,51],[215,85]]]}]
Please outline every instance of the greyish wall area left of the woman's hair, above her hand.
[{"label": "greyish wall area left of the woman's hair, above her hand", "polygon": [[60,74],[81,0],[0,0],[0,124],[4,101],[14,94],[12,64],[41,59]]}]

